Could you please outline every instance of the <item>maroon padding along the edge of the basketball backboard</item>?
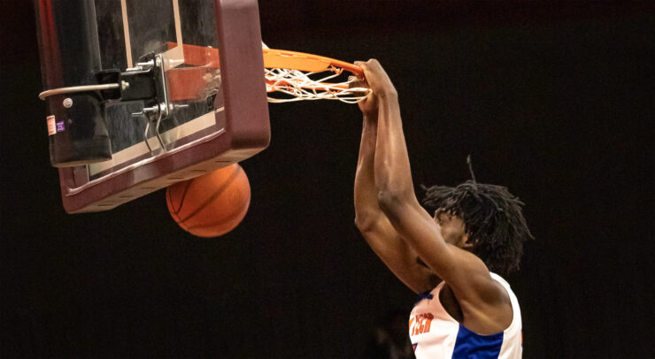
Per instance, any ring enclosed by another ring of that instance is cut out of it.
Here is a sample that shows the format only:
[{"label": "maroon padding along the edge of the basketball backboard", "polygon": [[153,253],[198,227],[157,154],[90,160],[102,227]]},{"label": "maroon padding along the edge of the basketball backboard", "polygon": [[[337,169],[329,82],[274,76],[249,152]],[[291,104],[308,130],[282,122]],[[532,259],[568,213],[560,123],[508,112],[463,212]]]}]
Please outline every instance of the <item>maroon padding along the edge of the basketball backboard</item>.
[{"label": "maroon padding along the edge of the basketball backboard", "polygon": [[110,179],[101,179],[75,194],[71,194],[71,188],[79,187],[79,184],[73,186],[73,168],[60,168],[62,201],[67,212],[109,210],[115,205],[99,208],[97,204],[143,182],[207,161],[222,164],[238,162],[266,149],[271,129],[258,3],[256,0],[215,0],[214,5],[225,101],[225,111],[217,112],[216,116],[217,123],[220,122],[218,117],[225,117],[225,133],[189,149],[162,155]]}]

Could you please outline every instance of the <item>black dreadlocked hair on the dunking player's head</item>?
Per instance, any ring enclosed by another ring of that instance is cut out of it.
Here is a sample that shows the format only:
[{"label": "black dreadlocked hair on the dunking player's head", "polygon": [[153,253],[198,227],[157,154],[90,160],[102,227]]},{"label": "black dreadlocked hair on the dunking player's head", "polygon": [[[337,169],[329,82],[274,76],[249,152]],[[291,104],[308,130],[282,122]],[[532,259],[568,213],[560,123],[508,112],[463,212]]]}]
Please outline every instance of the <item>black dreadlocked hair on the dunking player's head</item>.
[{"label": "black dreadlocked hair on the dunking player's head", "polygon": [[523,241],[533,239],[521,207],[506,187],[467,180],[457,187],[423,187],[423,205],[462,219],[473,252],[489,271],[509,274],[519,269]]}]

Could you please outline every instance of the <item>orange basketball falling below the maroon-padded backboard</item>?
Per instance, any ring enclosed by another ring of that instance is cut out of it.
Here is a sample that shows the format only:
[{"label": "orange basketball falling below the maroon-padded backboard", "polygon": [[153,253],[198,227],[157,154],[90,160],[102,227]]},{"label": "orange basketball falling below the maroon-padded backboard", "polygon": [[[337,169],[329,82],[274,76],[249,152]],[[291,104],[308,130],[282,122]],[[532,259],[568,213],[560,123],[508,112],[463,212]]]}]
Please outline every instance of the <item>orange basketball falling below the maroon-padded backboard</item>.
[{"label": "orange basketball falling below the maroon-padded backboard", "polygon": [[235,229],[250,205],[250,183],[239,164],[174,184],[166,189],[168,211],[178,225],[198,237],[218,237]]}]

